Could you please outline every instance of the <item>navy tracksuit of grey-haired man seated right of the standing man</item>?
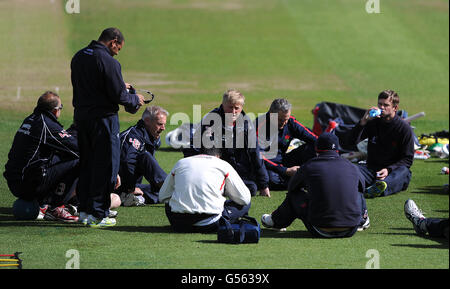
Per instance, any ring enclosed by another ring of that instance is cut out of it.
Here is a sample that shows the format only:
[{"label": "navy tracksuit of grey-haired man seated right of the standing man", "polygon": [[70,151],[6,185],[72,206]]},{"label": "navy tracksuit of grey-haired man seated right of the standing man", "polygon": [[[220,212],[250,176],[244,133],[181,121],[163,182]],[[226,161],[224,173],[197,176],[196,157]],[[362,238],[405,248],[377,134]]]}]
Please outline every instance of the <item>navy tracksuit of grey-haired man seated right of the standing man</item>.
[{"label": "navy tracksuit of grey-haired man seated right of the standing man", "polygon": [[[146,203],[159,202],[159,186],[167,177],[155,158],[160,146],[161,139],[153,139],[143,120],[120,134],[120,192],[132,192],[137,186],[143,190]],[[142,177],[149,185],[141,184]]]}]

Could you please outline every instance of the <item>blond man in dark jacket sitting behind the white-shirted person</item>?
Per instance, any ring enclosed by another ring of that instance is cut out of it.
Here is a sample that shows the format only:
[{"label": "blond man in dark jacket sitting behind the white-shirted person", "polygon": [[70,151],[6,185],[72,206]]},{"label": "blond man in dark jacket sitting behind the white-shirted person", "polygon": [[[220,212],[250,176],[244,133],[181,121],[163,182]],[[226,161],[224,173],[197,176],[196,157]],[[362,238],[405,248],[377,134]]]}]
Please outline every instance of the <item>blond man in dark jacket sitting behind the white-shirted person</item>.
[{"label": "blond man in dark jacket sitting behind the white-shirted person", "polygon": [[194,148],[185,157],[199,154],[205,147],[220,148],[222,159],[238,172],[252,196],[259,190],[261,196],[270,197],[269,177],[253,124],[243,111],[244,103],[240,91],[227,90],[220,107],[203,117],[193,137]]}]

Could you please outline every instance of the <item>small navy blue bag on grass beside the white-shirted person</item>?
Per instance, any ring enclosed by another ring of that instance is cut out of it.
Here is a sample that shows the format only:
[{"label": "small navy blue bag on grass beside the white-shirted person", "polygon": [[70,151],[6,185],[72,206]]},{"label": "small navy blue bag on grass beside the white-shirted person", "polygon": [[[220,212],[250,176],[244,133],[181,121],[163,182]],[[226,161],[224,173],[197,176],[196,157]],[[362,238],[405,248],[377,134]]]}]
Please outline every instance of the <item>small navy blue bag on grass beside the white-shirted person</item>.
[{"label": "small navy blue bag on grass beside the white-shirted person", "polygon": [[255,218],[243,216],[235,224],[231,224],[224,217],[219,219],[217,230],[217,241],[219,243],[258,243],[260,236],[261,227]]}]

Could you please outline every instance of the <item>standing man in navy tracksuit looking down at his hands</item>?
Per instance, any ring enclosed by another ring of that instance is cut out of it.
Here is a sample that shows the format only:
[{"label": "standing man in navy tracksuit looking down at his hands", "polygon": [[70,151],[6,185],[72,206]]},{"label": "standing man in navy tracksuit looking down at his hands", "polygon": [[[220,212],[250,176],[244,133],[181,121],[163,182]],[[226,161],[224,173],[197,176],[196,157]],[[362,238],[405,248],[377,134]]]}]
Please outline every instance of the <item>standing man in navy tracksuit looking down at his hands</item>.
[{"label": "standing man in navy tracksuit looking down at his hands", "polygon": [[108,28],[71,62],[74,122],[78,127],[80,219],[90,227],[114,226],[108,218],[110,194],[120,164],[119,105],[136,113],[144,97],[131,94],[122,78],[120,63],[113,57],[124,45],[119,29]]}]

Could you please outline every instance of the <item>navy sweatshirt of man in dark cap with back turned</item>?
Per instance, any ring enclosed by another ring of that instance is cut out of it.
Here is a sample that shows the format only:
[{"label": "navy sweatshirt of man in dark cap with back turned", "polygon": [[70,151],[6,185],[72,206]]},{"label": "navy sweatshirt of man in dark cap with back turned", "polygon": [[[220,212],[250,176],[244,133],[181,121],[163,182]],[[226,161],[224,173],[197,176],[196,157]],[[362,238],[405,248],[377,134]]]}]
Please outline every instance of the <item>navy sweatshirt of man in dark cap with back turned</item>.
[{"label": "navy sweatshirt of man in dark cap with back turned", "polygon": [[308,191],[308,221],[316,227],[339,228],[359,225],[362,214],[360,192],[364,189],[358,168],[325,151],[307,161],[292,177],[288,193]]}]

